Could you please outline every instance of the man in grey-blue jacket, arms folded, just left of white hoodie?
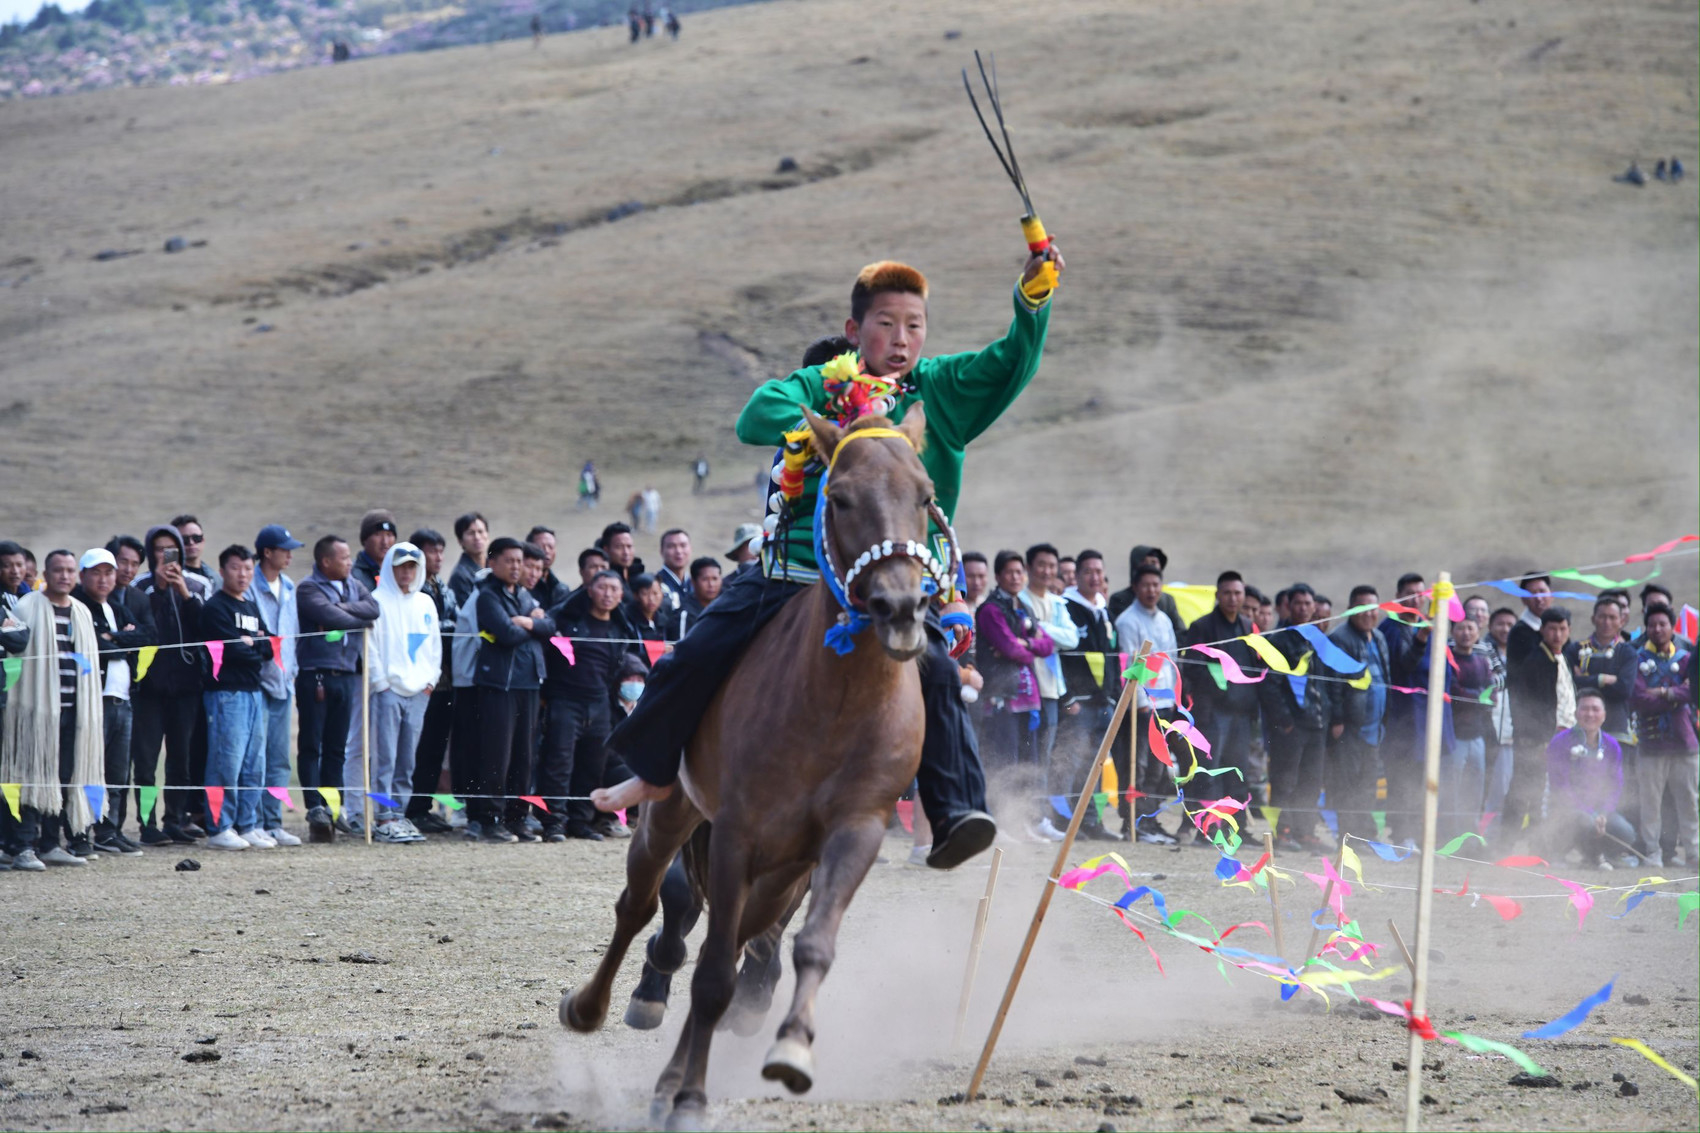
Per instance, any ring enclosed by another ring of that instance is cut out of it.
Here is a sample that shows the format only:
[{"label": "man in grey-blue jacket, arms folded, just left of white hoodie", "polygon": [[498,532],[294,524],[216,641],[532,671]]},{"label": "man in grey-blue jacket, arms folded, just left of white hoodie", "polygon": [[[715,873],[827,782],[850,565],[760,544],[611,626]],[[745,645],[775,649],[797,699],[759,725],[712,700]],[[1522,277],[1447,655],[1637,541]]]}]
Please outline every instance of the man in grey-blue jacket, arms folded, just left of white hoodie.
[{"label": "man in grey-blue jacket, arms folded, just left of white hoodie", "polygon": [[[296,587],[301,640],[296,643],[296,774],[314,842],[335,840],[333,815],[318,788],[342,791],[348,720],[360,696],[355,669],[364,631],[377,621],[377,602],[354,573],[348,541],[328,534],[313,544],[313,573]],[[335,638],[332,636],[335,635]]]}]

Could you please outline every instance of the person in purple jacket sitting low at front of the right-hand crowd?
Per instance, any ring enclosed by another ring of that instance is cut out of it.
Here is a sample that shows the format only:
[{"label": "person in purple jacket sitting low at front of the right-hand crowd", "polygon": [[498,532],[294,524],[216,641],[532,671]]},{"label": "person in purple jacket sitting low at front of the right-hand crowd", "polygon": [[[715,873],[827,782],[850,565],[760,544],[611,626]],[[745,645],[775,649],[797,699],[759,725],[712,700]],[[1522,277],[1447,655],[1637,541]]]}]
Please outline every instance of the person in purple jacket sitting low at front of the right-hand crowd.
[{"label": "person in purple jacket sitting low at front of the right-hand crowd", "polygon": [[1583,861],[1593,857],[1600,869],[1612,869],[1617,854],[1625,868],[1640,861],[1624,852],[1635,837],[1634,827],[1617,813],[1624,794],[1624,749],[1605,732],[1605,697],[1598,689],[1576,691],[1576,726],[1547,743],[1547,832],[1549,857],[1572,849]]}]

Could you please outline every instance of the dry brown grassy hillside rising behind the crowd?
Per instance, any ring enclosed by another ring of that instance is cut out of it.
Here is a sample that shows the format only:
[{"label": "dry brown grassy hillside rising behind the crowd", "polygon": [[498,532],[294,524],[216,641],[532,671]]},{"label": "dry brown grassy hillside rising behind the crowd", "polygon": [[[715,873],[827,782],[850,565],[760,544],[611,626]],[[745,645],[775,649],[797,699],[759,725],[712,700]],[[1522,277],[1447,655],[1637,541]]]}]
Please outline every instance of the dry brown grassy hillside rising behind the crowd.
[{"label": "dry brown grassy hillside rising behind the crowd", "polygon": [[595,524],[654,481],[724,549],[767,459],[733,417],[864,262],[928,272],[933,350],[1008,318],[971,48],[1069,272],[969,543],[1343,597],[1695,527],[1695,179],[1612,180],[1700,165],[1692,2],[785,0],[622,37],[0,105],[0,532],[478,505],[573,546],[593,458]]}]

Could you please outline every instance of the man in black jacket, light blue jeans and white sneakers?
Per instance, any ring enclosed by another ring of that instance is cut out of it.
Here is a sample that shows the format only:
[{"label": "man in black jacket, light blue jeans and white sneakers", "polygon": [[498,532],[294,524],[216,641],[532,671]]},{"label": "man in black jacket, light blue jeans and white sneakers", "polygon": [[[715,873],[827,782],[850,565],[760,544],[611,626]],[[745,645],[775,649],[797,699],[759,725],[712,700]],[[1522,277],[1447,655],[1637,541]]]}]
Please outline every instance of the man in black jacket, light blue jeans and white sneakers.
[{"label": "man in black jacket, light blue jeans and white sneakers", "polygon": [[[260,670],[272,662],[260,607],[248,599],[253,553],[240,543],[219,551],[223,589],[201,611],[207,643],[202,701],[207,709],[207,849],[275,849],[260,828],[260,783],[265,777],[265,692]],[[223,800],[214,789],[223,789]]]}]

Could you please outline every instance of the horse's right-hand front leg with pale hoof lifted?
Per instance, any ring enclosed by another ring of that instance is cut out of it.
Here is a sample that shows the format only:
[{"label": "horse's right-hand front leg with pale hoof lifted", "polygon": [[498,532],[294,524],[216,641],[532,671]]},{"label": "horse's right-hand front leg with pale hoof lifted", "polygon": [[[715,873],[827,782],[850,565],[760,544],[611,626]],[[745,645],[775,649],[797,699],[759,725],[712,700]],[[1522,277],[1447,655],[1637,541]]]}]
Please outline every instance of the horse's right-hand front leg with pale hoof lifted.
[{"label": "horse's right-hand front leg with pale hoof lifted", "polygon": [[879,817],[862,818],[833,830],[821,847],[809,917],[802,922],[792,949],[797,992],[762,1067],[763,1079],[784,1082],[792,1094],[802,1094],[814,1085],[814,995],[833,966],[845,908],[879,857],[884,837],[886,823]]}]

